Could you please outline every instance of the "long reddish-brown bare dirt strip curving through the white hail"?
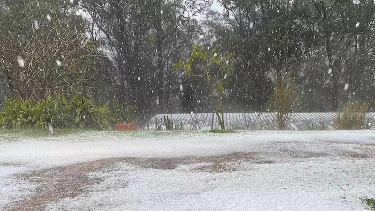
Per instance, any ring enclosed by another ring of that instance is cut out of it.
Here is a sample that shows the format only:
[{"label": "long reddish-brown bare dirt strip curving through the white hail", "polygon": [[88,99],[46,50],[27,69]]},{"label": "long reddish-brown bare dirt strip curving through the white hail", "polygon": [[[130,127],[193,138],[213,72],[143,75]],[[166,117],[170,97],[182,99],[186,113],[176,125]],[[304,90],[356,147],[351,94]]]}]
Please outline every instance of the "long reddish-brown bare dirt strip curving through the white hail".
[{"label": "long reddish-brown bare dirt strip curving through the white hail", "polygon": [[89,173],[106,171],[115,163],[135,164],[146,169],[172,170],[183,164],[213,163],[206,168],[198,168],[198,171],[211,173],[236,171],[230,162],[257,160],[255,152],[234,152],[231,154],[211,157],[180,157],[180,158],[108,158],[96,161],[71,164],[45,170],[33,171],[15,175],[14,177],[39,184],[36,193],[13,205],[6,206],[6,211],[41,211],[45,210],[49,203],[55,203],[65,198],[74,198],[87,192],[86,187],[98,184],[102,179],[93,179]]}]

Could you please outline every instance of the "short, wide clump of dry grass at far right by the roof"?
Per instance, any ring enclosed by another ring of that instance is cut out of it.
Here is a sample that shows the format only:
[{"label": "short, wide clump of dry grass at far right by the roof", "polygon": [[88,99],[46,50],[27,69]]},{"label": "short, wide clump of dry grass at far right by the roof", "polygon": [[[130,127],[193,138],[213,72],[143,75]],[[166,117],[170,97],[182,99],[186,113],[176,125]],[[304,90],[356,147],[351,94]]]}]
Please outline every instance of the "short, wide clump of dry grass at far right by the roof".
[{"label": "short, wide clump of dry grass at far right by the roof", "polygon": [[341,104],[333,128],[335,130],[366,129],[366,112],[368,107],[368,102],[360,99]]}]

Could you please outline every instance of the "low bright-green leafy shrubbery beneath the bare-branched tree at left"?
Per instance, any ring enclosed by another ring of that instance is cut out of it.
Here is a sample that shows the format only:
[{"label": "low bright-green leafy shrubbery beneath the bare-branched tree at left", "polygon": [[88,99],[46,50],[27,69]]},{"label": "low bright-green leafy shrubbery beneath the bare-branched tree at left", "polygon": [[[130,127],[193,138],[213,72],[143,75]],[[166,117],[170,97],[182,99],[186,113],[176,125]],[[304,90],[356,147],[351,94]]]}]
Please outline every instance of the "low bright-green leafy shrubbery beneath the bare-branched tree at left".
[{"label": "low bright-green leafy shrubbery beneath the bare-branched tree at left", "polygon": [[129,121],[129,110],[135,107],[112,102],[98,105],[90,102],[91,97],[79,95],[47,96],[42,101],[6,100],[5,108],[0,112],[0,125],[3,128],[30,129],[45,128],[51,124],[54,128],[98,128],[106,129],[120,121]]}]

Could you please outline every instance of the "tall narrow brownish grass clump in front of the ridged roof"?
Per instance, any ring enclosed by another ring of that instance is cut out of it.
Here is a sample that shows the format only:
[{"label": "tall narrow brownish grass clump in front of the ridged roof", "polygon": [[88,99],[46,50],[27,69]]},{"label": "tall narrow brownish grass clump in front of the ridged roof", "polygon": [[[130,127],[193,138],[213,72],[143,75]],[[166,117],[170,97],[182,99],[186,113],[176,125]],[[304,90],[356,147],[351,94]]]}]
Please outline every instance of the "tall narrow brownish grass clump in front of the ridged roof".
[{"label": "tall narrow brownish grass clump in front of the ridged roof", "polygon": [[288,77],[277,78],[267,107],[273,112],[278,130],[285,129],[297,107],[297,102],[296,84]]}]

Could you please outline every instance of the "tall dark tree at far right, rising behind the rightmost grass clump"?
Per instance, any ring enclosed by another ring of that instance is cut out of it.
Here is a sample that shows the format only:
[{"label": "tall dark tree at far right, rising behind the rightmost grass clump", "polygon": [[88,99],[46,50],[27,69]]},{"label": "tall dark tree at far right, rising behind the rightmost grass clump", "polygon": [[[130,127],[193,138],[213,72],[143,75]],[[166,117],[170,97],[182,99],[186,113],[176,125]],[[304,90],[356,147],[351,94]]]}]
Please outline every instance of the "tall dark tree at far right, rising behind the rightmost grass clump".
[{"label": "tall dark tree at far right, rising behind the rightmost grass clump", "polygon": [[[374,20],[374,1],[365,0],[358,3],[353,1],[332,1],[332,0],[311,0],[310,10],[312,20],[315,21],[315,30],[318,33],[324,47],[324,55],[328,63],[330,74],[326,77],[327,87],[329,87],[330,107],[333,110],[338,108],[340,99],[339,81],[344,72],[353,74],[354,70],[345,69],[346,65],[352,63],[352,56],[357,57],[357,46],[359,45],[358,36],[365,32]],[[354,55],[350,56],[350,51],[356,49]],[[362,52],[364,53],[364,52]],[[365,56],[362,54],[362,56]],[[357,72],[356,74],[360,74]],[[349,76],[352,78],[352,76]],[[344,83],[345,84],[345,83]],[[353,84],[352,84],[353,85]]]}]

